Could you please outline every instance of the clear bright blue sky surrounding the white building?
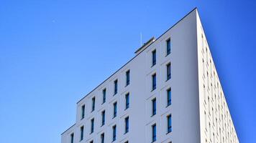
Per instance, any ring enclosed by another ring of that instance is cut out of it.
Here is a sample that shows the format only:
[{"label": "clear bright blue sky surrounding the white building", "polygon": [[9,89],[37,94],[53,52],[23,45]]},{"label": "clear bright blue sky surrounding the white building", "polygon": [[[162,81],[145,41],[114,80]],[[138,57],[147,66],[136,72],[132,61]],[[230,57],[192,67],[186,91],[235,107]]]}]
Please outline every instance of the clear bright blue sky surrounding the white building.
[{"label": "clear bright blue sky surrounding the white building", "polygon": [[253,1],[0,2],[0,140],[58,143],[76,102],[198,7],[242,143],[256,142]]}]

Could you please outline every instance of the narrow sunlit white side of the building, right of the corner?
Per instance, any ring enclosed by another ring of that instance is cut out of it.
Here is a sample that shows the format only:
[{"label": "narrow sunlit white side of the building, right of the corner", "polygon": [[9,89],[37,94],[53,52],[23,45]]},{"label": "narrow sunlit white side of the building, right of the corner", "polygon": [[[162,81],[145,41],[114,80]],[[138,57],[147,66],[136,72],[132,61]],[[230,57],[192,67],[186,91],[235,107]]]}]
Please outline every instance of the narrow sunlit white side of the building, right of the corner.
[{"label": "narrow sunlit white side of the building, right of the corner", "polygon": [[209,44],[197,14],[198,87],[201,142],[238,143],[237,133],[211,56]]}]

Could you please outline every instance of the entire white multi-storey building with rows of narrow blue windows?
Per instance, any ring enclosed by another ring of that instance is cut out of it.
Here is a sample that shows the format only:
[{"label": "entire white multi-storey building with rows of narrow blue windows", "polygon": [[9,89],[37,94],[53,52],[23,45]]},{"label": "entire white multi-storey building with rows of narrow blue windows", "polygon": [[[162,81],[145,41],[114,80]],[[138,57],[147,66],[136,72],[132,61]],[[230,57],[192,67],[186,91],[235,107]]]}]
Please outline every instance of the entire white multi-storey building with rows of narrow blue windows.
[{"label": "entire white multi-storey building with rows of narrow blue windows", "polygon": [[238,143],[197,9],[77,103],[61,143]]}]

